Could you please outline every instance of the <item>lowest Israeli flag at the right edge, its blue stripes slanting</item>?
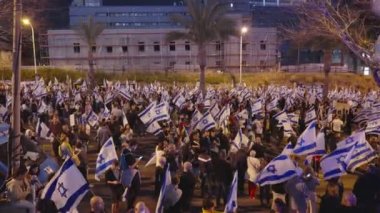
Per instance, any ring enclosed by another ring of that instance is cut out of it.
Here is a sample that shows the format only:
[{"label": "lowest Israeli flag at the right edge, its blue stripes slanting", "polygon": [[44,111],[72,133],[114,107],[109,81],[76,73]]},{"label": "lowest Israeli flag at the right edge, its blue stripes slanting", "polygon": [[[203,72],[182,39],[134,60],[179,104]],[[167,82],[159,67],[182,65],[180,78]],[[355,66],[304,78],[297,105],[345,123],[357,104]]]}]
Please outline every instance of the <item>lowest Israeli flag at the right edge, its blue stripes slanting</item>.
[{"label": "lowest Israeli flag at the right edge, its blue stripes slanting", "polygon": [[346,171],[354,172],[356,168],[369,163],[377,156],[371,145],[365,141],[359,141],[348,153],[343,167]]}]

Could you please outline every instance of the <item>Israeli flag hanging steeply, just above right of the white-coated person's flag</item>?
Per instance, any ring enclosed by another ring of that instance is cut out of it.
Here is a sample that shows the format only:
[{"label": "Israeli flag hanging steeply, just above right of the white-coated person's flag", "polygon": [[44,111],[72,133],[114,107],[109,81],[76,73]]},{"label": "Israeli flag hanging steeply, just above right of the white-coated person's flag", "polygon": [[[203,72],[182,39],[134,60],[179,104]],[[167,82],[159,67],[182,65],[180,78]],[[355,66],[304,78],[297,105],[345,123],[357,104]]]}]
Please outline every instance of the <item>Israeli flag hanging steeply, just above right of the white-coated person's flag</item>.
[{"label": "Israeli flag hanging steeply, just above right of the white-coated person's flag", "polygon": [[307,155],[313,153],[317,147],[316,136],[317,122],[312,121],[305,131],[298,137],[293,153],[296,155]]}]

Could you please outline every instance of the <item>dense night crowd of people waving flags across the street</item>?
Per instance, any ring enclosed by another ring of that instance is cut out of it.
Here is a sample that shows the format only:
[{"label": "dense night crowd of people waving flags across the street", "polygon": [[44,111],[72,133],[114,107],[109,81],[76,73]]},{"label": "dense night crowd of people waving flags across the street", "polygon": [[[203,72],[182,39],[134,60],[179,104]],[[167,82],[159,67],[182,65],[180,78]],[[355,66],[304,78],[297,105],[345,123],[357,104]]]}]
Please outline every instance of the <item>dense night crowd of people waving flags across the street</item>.
[{"label": "dense night crowd of people waving flags across the street", "polygon": [[[95,144],[98,153],[112,138],[119,157],[101,177],[110,189],[112,207],[105,210],[103,199],[94,195],[91,212],[120,212],[121,202],[126,203],[127,212],[153,212],[139,201],[139,167],[143,165],[138,147],[150,134],[157,141],[146,165],[155,166],[151,191],[160,203],[156,212],[199,212],[192,204],[198,189],[202,212],[231,212],[226,206],[238,207],[239,202],[230,203],[236,171],[237,196],[258,199],[271,212],[379,212],[377,159],[355,170],[357,180],[351,191],[340,177],[334,177],[326,180],[325,193],[317,194],[321,155],[305,164],[303,156],[289,154],[297,175],[276,184],[258,182],[272,159],[288,145],[296,146],[312,120],[323,133],[327,153],[336,150],[339,141],[365,129],[376,114],[369,109],[376,108],[377,94],[336,88],[323,97],[317,85],[210,88],[202,93],[187,85],[107,81],[91,90],[85,82],[56,80],[45,85],[38,80],[23,85],[21,143],[25,156],[39,153],[39,160],[25,159],[5,181],[6,197],[29,212],[57,212],[52,200],[41,199],[44,186],[66,159],[72,159],[90,180],[89,145]],[[10,102],[7,98],[0,109],[6,123],[10,121]],[[286,122],[278,118],[283,112],[287,113]],[[366,132],[366,140],[380,152],[376,129]],[[44,153],[43,144],[51,146],[54,156]],[[51,164],[42,168],[42,161]]]}]

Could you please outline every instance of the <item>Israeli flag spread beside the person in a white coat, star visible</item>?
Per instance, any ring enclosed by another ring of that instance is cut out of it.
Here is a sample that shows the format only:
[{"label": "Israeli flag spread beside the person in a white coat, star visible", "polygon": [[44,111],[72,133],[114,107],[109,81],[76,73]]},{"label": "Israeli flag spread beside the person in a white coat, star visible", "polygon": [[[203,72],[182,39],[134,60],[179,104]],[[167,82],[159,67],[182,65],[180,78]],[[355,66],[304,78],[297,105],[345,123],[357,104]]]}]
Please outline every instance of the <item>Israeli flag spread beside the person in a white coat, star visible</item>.
[{"label": "Israeli flag spread beside the person in a white coat, star visible", "polygon": [[274,158],[260,172],[257,183],[260,186],[282,183],[297,175],[296,166],[287,155]]}]

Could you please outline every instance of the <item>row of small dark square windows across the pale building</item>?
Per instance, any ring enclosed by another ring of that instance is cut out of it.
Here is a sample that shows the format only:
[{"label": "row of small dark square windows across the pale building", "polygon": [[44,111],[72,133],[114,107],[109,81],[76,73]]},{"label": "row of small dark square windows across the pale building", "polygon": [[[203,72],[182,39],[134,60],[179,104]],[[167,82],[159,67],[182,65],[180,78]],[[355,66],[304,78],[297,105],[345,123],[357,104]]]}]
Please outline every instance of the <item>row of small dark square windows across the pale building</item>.
[{"label": "row of small dark square windows across the pale building", "polygon": [[[74,46],[74,53],[80,53],[80,43],[73,43],[73,46]],[[247,46],[248,46],[247,43],[243,43],[242,50],[246,51]],[[138,42],[137,48],[138,48],[139,52],[145,52],[145,42]],[[128,46],[127,45],[121,46],[121,49],[122,49],[123,53],[128,52]],[[185,50],[190,51],[190,49],[191,49],[190,48],[190,42],[186,41],[185,42]],[[216,42],[215,50],[216,51],[223,51],[224,50],[224,43]],[[266,50],[266,44],[265,43],[260,44],[260,50]],[[95,46],[92,47],[92,51],[96,52]],[[106,46],[106,51],[107,51],[107,53],[112,53],[113,47],[112,46]],[[158,42],[158,41],[153,42],[153,51],[154,52],[160,52],[161,51],[160,42]],[[169,51],[176,51],[176,44],[174,41],[169,43]]]}]

